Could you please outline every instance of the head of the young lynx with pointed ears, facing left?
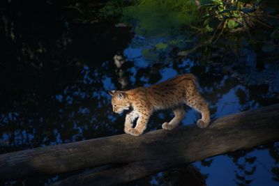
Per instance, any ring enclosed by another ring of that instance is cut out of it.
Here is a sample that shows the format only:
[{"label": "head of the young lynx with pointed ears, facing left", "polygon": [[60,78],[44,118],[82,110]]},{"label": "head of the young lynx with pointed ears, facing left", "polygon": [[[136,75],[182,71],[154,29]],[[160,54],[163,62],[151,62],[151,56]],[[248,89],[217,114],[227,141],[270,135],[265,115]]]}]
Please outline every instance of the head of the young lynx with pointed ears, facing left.
[{"label": "head of the young lynx with pointed ears, facing left", "polygon": [[124,110],[130,109],[130,102],[125,91],[108,91],[112,95],[112,111],[121,114]]}]

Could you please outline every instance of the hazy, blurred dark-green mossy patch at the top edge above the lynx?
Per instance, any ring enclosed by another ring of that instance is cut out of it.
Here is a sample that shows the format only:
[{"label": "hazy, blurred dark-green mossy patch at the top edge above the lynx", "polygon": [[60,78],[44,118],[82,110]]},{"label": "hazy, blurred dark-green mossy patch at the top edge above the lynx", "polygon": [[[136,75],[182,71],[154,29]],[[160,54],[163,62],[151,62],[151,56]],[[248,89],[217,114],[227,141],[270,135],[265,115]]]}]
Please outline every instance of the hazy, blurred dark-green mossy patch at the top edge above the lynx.
[{"label": "hazy, blurred dark-green mossy patch at the top edge above the lynx", "polygon": [[123,10],[123,20],[136,22],[135,32],[144,36],[167,36],[197,19],[193,0],[139,0]]}]

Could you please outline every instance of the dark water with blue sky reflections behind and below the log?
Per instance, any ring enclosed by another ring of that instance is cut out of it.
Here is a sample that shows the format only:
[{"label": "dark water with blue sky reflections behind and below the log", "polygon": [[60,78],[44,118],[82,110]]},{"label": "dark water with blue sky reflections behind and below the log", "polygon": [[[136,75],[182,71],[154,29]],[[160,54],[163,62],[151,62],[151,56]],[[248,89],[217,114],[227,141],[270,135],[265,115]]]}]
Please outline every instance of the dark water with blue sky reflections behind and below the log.
[{"label": "dark water with blue sky reflections behind and below the log", "polygon": [[[0,153],[122,134],[124,116],[112,114],[105,91],[147,86],[186,72],[199,79],[212,118],[279,102],[276,64],[259,68],[251,49],[243,50],[241,64],[221,65],[218,58],[204,64],[176,56],[154,63],[142,56],[149,43],[112,21],[73,22],[60,4],[50,1],[1,5]],[[116,54],[126,59],[121,68],[114,64]],[[183,125],[199,118],[187,111]],[[168,111],[154,114],[146,132],[170,118]],[[278,185],[278,148],[276,142],[194,165],[208,185]],[[166,185],[162,175],[129,185]],[[45,185],[59,178],[2,184]]]}]

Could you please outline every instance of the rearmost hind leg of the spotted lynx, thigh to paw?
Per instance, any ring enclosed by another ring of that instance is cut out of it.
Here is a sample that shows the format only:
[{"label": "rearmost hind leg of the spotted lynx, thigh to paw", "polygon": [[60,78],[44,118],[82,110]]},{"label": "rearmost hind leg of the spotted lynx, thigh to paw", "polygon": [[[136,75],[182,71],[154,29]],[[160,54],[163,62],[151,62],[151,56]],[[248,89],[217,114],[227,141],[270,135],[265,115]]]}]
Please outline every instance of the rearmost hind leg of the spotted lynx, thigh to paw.
[{"label": "rearmost hind leg of the spotted lynx, thigh to paw", "polygon": [[199,93],[196,92],[192,96],[188,97],[186,104],[202,114],[202,118],[197,121],[197,126],[200,128],[207,127],[210,123],[210,114],[209,105],[206,103],[204,98],[202,98]]}]

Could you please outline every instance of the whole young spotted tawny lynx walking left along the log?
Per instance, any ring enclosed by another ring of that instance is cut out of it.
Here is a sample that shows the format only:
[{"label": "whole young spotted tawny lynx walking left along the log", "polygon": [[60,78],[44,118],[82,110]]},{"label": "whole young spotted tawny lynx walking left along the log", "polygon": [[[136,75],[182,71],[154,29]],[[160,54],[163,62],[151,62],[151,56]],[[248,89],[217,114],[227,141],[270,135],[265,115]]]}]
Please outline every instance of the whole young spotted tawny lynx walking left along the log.
[{"label": "whole young spotted tawny lynx walking left along the log", "polygon": [[[131,110],[126,114],[124,131],[138,136],[146,129],[146,124],[153,111],[160,109],[173,109],[174,118],[162,127],[172,130],[183,120],[186,112],[183,104],[187,104],[199,111],[202,118],[197,121],[197,126],[205,128],[210,123],[208,104],[199,95],[195,83],[195,76],[184,74],[167,79],[167,81],[149,87],[135,88],[129,91],[109,91],[112,95],[112,110],[121,114],[124,110]],[[137,125],[133,128],[133,121]]]}]

